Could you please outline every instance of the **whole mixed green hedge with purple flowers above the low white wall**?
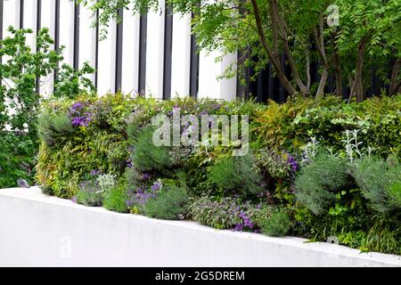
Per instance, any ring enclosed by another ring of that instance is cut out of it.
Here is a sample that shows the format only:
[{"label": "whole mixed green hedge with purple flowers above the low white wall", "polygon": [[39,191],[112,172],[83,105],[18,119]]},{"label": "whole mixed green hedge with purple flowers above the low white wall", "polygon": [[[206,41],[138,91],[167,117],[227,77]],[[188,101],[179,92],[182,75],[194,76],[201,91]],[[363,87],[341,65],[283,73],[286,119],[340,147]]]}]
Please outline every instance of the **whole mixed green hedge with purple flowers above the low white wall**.
[{"label": "whole mixed green hedge with purple flowers above the low white wall", "polygon": [[[174,108],[249,115],[249,154],[232,157],[233,145],[156,147],[151,118],[171,117]],[[336,236],[350,247],[401,254],[401,183],[394,178],[400,110],[401,95],[359,104],[334,96],[267,105],[124,94],[49,101],[38,126],[37,182],[48,194],[94,204],[82,199],[102,200],[94,197],[98,182],[113,177],[103,195],[113,210],[314,240]],[[381,176],[368,175],[374,163]]]}]

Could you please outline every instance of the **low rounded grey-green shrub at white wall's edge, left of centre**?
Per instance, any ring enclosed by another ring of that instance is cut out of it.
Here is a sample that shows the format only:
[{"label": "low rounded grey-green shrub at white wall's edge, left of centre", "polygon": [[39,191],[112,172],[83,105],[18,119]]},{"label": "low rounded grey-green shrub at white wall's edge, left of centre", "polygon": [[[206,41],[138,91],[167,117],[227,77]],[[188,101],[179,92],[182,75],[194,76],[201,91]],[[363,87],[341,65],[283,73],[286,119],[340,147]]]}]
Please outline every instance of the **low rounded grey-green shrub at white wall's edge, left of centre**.
[{"label": "low rounded grey-green shrub at white wall's edge, left of centre", "polygon": [[166,220],[182,219],[186,214],[187,203],[188,194],[184,187],[167,186],[155,198],[147,200],[143,205],[143,213]]}]

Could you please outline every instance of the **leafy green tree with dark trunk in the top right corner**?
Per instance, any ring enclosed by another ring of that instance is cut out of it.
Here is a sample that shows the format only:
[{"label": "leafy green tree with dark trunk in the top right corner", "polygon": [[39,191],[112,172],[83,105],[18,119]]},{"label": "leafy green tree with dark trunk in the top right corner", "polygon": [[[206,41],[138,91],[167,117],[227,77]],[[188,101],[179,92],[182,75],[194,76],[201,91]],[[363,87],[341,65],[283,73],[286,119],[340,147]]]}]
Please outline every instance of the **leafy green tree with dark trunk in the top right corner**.
[{"label": "leafy green tree with dark trunk in the top right corner", "polygon": [[[401,77],[401,2],[399,0],[337,0],[340,29],[336,45],[348,69],[350,97],[364,100],[364,74],[372,67],[387,77],[387,61],[394,57],[390,94],[399,92]],[[384,72],[383,72],[384,71]]]}]

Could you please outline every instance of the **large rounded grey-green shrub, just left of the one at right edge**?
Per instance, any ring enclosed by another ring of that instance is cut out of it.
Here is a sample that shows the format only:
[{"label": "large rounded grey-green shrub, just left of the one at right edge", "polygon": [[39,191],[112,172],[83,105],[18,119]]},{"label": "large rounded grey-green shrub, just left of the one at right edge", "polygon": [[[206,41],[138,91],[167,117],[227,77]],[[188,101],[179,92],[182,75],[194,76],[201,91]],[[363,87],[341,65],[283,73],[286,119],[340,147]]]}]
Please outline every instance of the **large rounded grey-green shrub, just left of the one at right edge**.
[{"label": "large rounded grey-green shrub, just left of the one at right edge", "polygon": [[348,184],[348,165],[344,159],[322,153],[296,177],[296,197],[315,215],[323,215],[333,204],[335,193]]}]

